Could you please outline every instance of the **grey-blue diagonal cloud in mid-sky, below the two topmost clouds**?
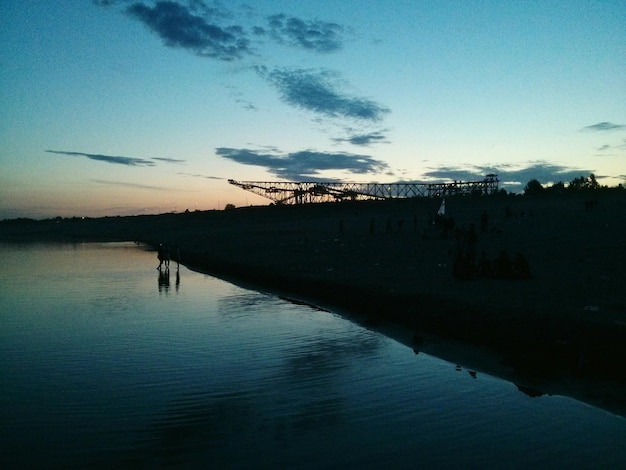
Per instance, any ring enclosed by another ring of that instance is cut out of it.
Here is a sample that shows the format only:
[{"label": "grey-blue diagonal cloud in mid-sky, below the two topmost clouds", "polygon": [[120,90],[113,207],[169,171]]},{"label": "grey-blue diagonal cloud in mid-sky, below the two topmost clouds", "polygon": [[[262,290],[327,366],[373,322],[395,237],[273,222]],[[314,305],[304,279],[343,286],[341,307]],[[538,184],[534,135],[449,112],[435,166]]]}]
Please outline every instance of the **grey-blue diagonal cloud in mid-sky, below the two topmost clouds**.
[{"label": "grey-blue diagonal cloud in mid-sky, below the two topmost clouds", "polygon": [[286,103],[327,117],[380,121],[389,109],[367,98],[343,94],[331,71],[276,68],[257,72],[274,85]]}]

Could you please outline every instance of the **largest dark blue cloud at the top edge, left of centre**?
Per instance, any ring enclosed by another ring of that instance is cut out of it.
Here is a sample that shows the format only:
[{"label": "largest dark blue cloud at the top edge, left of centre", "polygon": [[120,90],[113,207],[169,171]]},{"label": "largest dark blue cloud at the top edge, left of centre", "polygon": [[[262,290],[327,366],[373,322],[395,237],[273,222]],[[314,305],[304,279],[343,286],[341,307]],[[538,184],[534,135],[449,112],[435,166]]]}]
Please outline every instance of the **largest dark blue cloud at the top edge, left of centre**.
[{"label": "largest dark blue cloud at the top edge, left of centre", "polygon": [[216,24],[213,20],[218,16],[217,10],[201,1],[191,2],[189,7],[171,1],[156,2],[153,7],[136,2],[126,12],[159,35],[168,47],[188,49],[198,56],[223,61],[241,59],[251,53],[243,28]]}]

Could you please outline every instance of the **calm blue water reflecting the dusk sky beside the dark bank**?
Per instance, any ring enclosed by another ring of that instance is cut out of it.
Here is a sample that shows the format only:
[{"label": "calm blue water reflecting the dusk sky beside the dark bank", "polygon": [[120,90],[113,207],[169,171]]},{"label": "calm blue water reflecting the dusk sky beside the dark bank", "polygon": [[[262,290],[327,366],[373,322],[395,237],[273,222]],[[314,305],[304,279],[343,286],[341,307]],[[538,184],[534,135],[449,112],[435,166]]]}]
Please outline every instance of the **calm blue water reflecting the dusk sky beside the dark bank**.
[{"label": "calm blue water reflecting the dusk sky beside the dark bank", "polygon": [[[133,244],[1,245],[3,467],[615,467],[626,420]],[[163,280],[162,280],[163,281]]]}]

